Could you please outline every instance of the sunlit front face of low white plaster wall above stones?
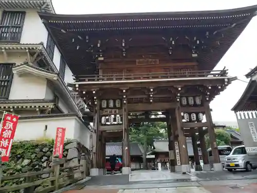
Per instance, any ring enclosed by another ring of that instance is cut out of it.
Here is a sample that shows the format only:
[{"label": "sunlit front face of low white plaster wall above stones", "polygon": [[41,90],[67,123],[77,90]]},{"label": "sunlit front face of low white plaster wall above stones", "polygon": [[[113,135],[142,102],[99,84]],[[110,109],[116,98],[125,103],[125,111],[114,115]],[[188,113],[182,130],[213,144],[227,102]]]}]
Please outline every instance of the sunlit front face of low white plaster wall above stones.
[{"label": "sunlit front face of low white plaster wall above stones", "polygon": [[[47,125],[47,130],[45,126]],[[65,127],[65,138],[74,138],[75,117],[21,119],[17,125],[14,140],[36,140],[55,138],[57,127]]]}]

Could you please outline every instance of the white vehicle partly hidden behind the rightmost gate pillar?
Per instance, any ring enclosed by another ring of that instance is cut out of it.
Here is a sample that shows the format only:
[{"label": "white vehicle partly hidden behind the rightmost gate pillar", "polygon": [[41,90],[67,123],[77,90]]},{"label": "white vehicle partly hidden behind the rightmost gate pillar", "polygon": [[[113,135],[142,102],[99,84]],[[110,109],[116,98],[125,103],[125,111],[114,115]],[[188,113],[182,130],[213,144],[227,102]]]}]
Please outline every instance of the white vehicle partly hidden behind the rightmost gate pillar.
[{"label": "white vehicle partly hidden behind the rightmost gate pillar", "polygon": [[[230,152],[232,151],[232,147],[225,145],[225,146],[218,146],[217,148],[218,148],[219,159],[221,160],[221,163],[224,167],[226,163],[225,157],[230,154]],[[213,168],[214,156],[212,154],[211,148],[209,148],[207,152],[209,156],[210,166],[211,168]]]}]

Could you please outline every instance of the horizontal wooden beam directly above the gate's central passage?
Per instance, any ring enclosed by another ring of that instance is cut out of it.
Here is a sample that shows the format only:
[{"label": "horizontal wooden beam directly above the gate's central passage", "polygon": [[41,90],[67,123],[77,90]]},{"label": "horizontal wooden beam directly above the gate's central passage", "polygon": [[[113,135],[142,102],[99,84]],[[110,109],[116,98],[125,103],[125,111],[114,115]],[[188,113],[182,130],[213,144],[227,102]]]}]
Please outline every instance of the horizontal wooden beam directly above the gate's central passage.
[{"label": "horizontal wooden beam directly above the gate's central passage", "polygon": [[127,104],[128,112],[161,111],[161,110],[174,109],[176,107],[177,107],[176,102]]}]

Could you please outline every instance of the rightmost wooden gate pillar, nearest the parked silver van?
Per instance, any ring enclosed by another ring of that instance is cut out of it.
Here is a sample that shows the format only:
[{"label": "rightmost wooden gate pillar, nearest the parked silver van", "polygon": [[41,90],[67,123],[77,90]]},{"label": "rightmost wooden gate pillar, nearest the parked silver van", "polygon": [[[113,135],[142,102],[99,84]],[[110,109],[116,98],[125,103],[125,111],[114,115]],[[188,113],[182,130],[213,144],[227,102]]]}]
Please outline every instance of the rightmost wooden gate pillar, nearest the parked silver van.
[{"label": "rightmost wooden gate pillar, nearest the parked silver van", "polygon": [[221,163],[221,161],[219,160],[218,148],[217,148],[217,143],[216,143],[216,136],[215,136],[215,132],[214,132],[214,125],[213,125],[213,122],[212,122],[209,102],[205,101],[204,106],[205,106],[206,121],[207,121],[207,124],[208,124],[208,133],[209,133],[209,138],[210,138],[210,145],[211,145],[212,155],[214,156],[214,164],[218,164],[218,163]]}]

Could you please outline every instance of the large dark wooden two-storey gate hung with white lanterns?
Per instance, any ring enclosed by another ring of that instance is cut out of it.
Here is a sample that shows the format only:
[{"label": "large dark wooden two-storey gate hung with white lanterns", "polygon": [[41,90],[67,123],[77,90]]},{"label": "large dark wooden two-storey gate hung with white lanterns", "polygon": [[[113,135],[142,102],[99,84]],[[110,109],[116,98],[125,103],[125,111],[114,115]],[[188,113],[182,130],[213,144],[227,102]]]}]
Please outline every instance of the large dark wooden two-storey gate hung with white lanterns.
[{"label": "large dark wooden two-storey gate hung with white lanterns", "polygon": [[214,170],[222,170],[209,104],[236,77],[228,76],[225,68],[213,68],[256,10],[257,6],[161,13],[39,13],[75,76],[69,86],[91,111],[90,174],[103,171],[105,143],[114,139],[122,142],[122,172],[130,173],[129,126],[155,121],[167,122],[171,171],[190,171],[186,137],[192,137],[196,169],[201,169],[196,135],[203,169],[210,170],[207,133]]}]

